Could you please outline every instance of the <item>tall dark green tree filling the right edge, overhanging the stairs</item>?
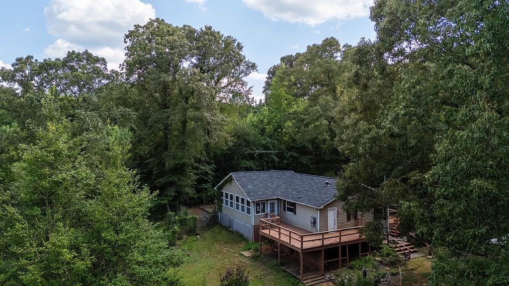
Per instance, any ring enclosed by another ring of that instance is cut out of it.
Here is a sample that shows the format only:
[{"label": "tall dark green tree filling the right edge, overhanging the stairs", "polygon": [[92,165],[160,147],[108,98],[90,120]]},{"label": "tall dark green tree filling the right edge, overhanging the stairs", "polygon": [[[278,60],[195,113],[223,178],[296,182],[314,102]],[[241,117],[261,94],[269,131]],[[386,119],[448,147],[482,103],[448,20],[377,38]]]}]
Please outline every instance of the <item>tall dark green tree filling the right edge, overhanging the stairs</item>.
[{"label": "tall dark green tree filling the right edge, overhanging the stairs", "polygon": [[498,1],[383,0],[372,8],[377,41],[365,59],[382,77],[353,86],[375,87],[359,102],[376,108],[340,141],[352,151],[355,137],[362,142],[349,153],[342,196],[365,208],[372,197],[400,203],[405,230],[439,249],[433,285],[508,282],[509,45],[500,29],[508,13]]}]

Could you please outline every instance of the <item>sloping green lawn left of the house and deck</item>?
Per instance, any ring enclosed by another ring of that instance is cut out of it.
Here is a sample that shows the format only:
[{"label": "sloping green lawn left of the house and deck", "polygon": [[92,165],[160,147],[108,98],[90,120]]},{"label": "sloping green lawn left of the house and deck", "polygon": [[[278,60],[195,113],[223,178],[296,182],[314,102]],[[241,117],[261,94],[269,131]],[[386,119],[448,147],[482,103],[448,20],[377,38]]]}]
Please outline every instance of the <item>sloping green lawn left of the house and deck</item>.
[{"label": "sloping green lawn left of the house and deck", "polygon": [[258,249],[241,235],[217,225],[202,233],[201,238],[191,236],[179,243],[187,249],[190,258],[178,269],[186,285],[219,285],[219,274],[228,267],[240,265],[249,272],[249,285],[301,285],[300,281],[277,266],[277,261],[265,258],[246,258],[241,250]]}]

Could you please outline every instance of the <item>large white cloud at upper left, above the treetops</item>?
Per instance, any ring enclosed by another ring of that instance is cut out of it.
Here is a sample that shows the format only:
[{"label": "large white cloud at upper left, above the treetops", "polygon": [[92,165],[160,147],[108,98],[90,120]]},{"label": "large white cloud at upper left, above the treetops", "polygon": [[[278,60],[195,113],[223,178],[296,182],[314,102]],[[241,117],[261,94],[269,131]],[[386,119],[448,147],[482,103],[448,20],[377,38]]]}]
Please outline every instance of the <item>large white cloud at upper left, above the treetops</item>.
[{"label": "large white cloud at upper left, above the treetops", "polygon": [[51,0],[44,14],[48,33],[59,37],[44,49],[47,56],[88,49],[104,57],[108,68],[118,69],[124,61],[124,34],[155,18],[155,9],[139,0]]}]

